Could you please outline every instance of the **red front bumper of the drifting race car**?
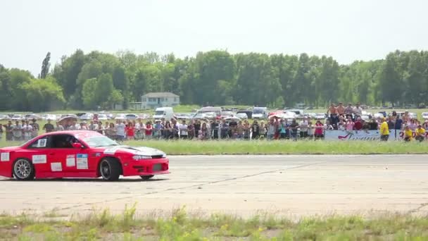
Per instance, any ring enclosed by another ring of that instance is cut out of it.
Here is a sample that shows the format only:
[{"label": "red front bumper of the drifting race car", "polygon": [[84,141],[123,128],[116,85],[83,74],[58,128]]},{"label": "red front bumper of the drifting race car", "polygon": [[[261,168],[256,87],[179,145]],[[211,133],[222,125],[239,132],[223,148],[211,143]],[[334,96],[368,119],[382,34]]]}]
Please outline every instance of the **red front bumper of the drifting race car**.
[{"label": "red front bumper of the drifting race car", "polygon": [[144,159],[122,163],[124,176],[168,174],[170,161],[163,159]]}]

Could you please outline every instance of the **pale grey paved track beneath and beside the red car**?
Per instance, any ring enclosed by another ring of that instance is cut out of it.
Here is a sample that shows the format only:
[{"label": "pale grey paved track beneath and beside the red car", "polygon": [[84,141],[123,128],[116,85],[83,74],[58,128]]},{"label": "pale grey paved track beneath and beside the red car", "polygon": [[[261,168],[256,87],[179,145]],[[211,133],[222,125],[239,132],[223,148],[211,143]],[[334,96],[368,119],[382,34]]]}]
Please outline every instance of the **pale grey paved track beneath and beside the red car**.
[{"label": "pale grey paved track beneath and beside the red car", "polygon": [[84,214],[137,204],[139,214],[191,212],[287,216],[427,214],[427,155],[170,156],[150,181],[0,180],[0,211]]}]

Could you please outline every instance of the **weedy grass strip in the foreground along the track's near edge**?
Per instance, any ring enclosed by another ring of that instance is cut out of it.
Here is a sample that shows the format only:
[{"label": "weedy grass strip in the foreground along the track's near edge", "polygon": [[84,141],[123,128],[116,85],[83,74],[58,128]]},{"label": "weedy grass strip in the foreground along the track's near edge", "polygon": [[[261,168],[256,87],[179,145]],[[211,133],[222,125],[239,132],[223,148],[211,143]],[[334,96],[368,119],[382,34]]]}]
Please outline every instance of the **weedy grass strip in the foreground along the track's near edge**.
[{"label": "weedy grass strip in the foreground along the track's near edge", "polygon": [[383,214],[325,216],[290,221],[260,213],[191,216],[184,208],[163,218],[139,217],[135,206],[67,219],[0,216],[0,237],[11,240],[427,240],[428,217]]}]

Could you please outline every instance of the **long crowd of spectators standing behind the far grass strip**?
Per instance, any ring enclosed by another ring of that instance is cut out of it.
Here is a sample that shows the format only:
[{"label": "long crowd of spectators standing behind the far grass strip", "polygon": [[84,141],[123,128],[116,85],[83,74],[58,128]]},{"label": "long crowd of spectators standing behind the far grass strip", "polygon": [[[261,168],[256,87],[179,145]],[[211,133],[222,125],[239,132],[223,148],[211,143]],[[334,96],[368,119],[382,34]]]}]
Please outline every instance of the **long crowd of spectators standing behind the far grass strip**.
[{"label": "long crowd of spectators standing behind the far grass strip", "polygon": [[[291,121],[272,116],[266,121],[239,121],[231,119],[213,120],[155,120],[143,121],[105,121],[102,123],[96,119],[77,123],[71,121],[64,126],[56,123],[54,126],[48,121],[42,130],[53,132],[58,130],[93,130],[110,137],[113,140],[298,140],[298,139],[322,139],[326,130],[379,130],[381,140],[388,140],[390,131],[403,132],[403,139],[422,141],[425,138],[425,129],[428,122],[420,123],[415,118],[410,118],[408,111],[398,115],[393,111],[390,116],[373,118],[368,120],[361,117],[363,109],[359,104],[344,106],[332,104],[327,110],[326,119],[311,120],[303,116],[301,119]],[[39,134],[39,124],[32,121],[16,121],[13,124],[8,121],[6,125],[0,124],[0,138],[6,133],[8,141],[25,141]]]}]

